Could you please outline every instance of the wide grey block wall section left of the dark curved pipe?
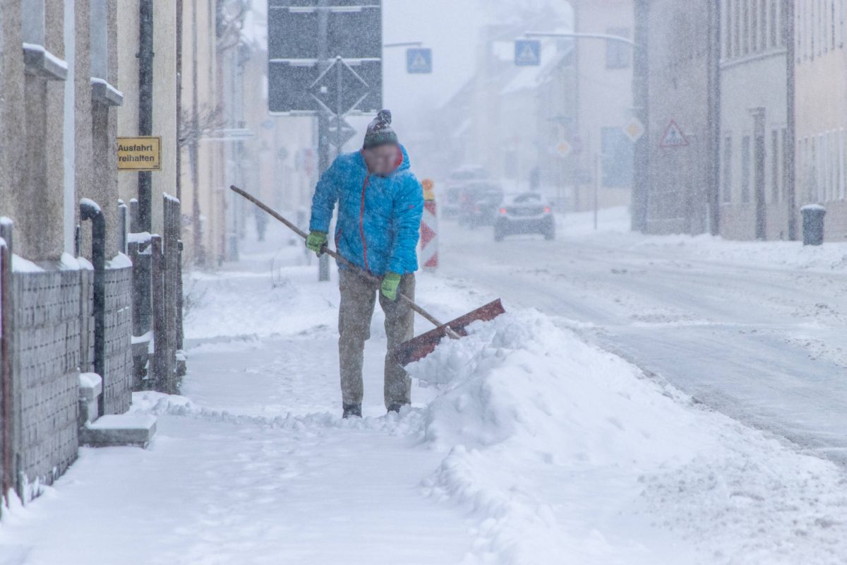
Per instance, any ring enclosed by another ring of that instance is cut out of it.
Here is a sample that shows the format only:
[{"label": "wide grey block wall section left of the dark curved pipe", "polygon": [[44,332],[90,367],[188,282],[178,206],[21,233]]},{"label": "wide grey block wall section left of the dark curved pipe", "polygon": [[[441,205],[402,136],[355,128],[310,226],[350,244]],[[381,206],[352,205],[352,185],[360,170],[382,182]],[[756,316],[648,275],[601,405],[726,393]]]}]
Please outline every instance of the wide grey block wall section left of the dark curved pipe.
[{"label": "wide grey block wall section left of the dark curved pipe", "polygon": [[14,274],[19,472],[48,484],[76,458],[80,274]]}]

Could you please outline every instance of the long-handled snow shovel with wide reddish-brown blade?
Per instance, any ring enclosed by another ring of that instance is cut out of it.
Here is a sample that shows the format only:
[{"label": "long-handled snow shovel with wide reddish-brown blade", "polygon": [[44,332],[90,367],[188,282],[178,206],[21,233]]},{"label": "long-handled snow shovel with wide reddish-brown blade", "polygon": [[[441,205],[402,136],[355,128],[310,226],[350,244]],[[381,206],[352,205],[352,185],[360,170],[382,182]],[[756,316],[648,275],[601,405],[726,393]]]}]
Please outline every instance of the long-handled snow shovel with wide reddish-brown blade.
[{"label": "long-handled snow shovel with wide reddish-brown blade", "polygon": [[[241,190],[238,186],[230,185],[230,190],[234,191],[236,194],[245,197],[250,202],[257,205],[257,207],[262,208],[265,212],[269,213],[274,219],[280,220],[283,224],[288,226],[289,229],[293,230],[296,235],[300,235],[303,240],[306,240],[308,237],[307,233],[296,226],[296,224],[292,224],[289,220],[285,219],[280,213],[278,213],[274,208],[270,208],[267,204],[260,201],[258,198],[253,197],[252,194],[247,193],[246,191]],[[349,269],[356,271],[358,274],[362,275],[366,280],[369,280],[375,284],[380,284],[382,280],[374,274],[368,273],[368,271],[362,269],[355,263],[351,263],[346,258],[342,257],[338,252],[335,252],[329,249],[328,246],[324,245],[323,252],[328,254],[329,257],[334,258],[339,263],[342,263]],[[465,328],[476,321],[487,322],[489,320],[495,319],[501,313],[505,313],[506,310],[503,309],[503,304],[500,302],[500,298],[495,300],[494,302],[489,302],[483,307],[479,307],[476,310],[468,312],[464,316],[460,316],[457,319],[452,320],[451,322],[447,322],[446,324],[442,324],[435,319],[435,316],[424,310],[424,308],[418,306],[411,298],[408,296],[398,292],[397,296],[401,300],[405,300],[408,302],[409,306],[412,307],[412,310],[419,313],[425,319],[427,319],[431,324],[435,325],[434,330],[429,330],[425,334],[418,335],[418,337],[413,337],[409,341],[404,341],[395,349],[395,361],[405,367],[407,364],[412,363],[414,361],[418,361],[418,359],[422,359],[429,355],[429,353],[435,350],[435,346],[439,344],[441,338],[445,335],[452,340],[457,340],[460,337],[464,337],[468,335],[465,331]]]}]

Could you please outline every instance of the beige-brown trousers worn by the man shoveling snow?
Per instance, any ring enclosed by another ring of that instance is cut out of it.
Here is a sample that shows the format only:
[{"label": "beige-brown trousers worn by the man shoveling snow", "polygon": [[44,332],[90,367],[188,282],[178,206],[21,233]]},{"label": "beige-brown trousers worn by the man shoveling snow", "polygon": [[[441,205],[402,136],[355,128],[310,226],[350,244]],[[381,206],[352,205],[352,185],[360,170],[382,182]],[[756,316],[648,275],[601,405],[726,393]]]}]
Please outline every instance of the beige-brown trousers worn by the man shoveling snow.
[{"label": "beige-brown trousers worn by the man shoveling snow", "polygon": [[385,335],[388,352],[385,354],[385,407],[411,402],[412,379],[394,362],[394,348],[412,339],[414,312],[405,294],[414,300],[415,275],[406,274],[400,280],[397,300],[391,302],[379,292],[379,283],[370,282],[349,269],[339,269],[341,306],[338,316],[338,357],[341,373],[341,398],[345,404],[361,404],[363,396],[362,365],[365,341],[370,337],[371,317],[379,294],[379,306],[385,313]]}]

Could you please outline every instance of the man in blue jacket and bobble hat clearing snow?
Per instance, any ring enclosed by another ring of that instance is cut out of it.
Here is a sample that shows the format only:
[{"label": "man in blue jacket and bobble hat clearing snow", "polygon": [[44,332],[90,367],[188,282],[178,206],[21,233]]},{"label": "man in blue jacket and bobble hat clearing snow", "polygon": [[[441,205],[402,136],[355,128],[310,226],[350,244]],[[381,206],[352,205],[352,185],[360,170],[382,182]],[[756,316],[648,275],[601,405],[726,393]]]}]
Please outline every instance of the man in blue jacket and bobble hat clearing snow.
[{"label": "man in blue jacket and bobble hat clearing snow", "polygon": [[414,334],[414,312],[398,291],[414,299],[415,271],[424,194],[409,167],[405,148],[391,129],[391,114],[382,110],[368,125],[361,151],[345,153],[321,175],[312,201],[306,246],[321,254],[327,243],[335,202],[335,246],[357,267],[381,279],[368,280],[339,263],[341,303],[341,397],[344,417],[362,416],[362,366],[365,341],[379,291],[385,312],[385,407],[399,412],[411,402],[411,379],[394,361],[394,349]]}]

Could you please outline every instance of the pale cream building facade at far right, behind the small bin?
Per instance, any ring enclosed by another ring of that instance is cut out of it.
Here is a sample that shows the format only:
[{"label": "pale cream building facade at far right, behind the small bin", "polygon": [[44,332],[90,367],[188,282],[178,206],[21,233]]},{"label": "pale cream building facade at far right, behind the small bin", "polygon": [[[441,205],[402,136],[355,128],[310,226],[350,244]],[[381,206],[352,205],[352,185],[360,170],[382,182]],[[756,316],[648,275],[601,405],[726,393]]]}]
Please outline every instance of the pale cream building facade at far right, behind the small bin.
[{"label": "pale cream building facade at far right, behind the small bin", "polygon": [[827,208],[824,236],[829,241],[847,236],[845,18],[844,0],[794,2],[797,208]]}]

